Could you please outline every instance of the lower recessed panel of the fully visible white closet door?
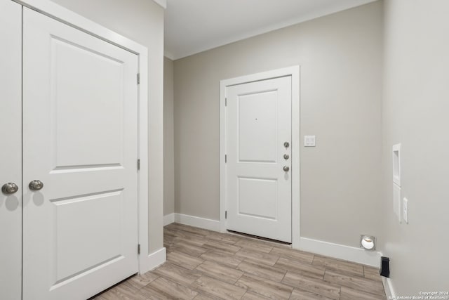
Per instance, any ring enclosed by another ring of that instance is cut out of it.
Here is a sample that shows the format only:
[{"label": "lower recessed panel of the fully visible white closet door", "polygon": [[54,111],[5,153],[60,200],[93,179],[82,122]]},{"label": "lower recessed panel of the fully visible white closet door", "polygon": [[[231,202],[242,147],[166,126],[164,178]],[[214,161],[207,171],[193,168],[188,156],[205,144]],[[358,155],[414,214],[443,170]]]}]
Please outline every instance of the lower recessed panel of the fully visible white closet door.
[{"label": "lower recessed panel of the fully visible white closet door", "polygon": [[[121,190],[55,199],[51,203],[55,253],[58,254],[52,261],[55,284],[123,257],[121,211],[125,203]],[[103,216],[105,211],[107,214]]]}]

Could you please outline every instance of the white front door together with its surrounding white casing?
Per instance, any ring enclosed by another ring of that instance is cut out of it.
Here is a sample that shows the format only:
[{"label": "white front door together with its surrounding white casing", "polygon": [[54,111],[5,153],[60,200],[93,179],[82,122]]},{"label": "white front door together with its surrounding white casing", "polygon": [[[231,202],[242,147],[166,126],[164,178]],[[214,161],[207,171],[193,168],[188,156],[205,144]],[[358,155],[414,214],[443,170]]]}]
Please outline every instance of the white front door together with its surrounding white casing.
[{"label": "white front door together with its surrounding white casing", "polygon": [[220,136],[220,230],[298,248],[299,67],[221,81]]}]

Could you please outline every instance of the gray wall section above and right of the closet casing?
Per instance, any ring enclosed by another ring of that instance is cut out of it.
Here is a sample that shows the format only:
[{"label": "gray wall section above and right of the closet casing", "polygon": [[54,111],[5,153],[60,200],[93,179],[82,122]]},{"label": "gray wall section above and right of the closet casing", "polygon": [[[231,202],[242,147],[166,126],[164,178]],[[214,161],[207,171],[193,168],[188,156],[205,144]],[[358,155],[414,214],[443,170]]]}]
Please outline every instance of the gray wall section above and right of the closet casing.
[{"label": "gray wall section above and right of the closet casing", "polygon": [[149,52],[149,252],[163,247],[163,8],[149,0],[53,0],[147,46]]}]

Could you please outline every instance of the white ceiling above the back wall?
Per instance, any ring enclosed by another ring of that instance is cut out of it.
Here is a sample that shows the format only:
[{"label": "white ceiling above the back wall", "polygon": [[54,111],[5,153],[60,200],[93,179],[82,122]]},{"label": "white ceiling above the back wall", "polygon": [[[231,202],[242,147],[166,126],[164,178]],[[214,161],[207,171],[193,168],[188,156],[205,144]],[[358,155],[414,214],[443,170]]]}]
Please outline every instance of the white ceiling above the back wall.
[{"label": "white ceiling above the back wall", "polygon": [[167,0],[165,56],[175,60],[375,0]]}]

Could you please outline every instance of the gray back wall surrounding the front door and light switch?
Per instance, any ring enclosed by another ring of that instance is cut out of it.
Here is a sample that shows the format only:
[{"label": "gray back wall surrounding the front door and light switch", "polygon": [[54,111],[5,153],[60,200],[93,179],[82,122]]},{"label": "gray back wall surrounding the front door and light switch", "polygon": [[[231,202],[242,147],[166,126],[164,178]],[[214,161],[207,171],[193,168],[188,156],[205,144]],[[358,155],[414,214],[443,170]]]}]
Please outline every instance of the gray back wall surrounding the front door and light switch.
[{"label": "gray back wall surrounding the front door and light switch", "polygon": [[[301,236],[382,230],[382,2],[175,60],[175,212],[219,219],[221,79],[301,65]],[[294,199],[293,201],[298,201]]]}]

